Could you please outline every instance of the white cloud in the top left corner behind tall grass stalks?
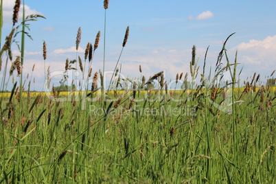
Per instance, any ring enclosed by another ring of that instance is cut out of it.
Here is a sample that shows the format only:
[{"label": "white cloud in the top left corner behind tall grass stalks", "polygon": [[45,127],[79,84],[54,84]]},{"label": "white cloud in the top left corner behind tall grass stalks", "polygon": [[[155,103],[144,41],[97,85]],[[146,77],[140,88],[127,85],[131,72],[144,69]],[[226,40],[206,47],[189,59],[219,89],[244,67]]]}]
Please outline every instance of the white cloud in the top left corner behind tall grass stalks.
[{"label": "white cloud in the top left corner behind tall grass stalks", "polygon": [[[12,23],[14,2],[15,2],[15,0],[3,1],[3,23]],[[22,12],[23,12],[23,4],[21,2],[20,10],[19,10],[19,19],[22,19]],[[25,4],[25,16],[30,15],[30,14],[43,15],[41,12],[31,9],[30,6]]]}]

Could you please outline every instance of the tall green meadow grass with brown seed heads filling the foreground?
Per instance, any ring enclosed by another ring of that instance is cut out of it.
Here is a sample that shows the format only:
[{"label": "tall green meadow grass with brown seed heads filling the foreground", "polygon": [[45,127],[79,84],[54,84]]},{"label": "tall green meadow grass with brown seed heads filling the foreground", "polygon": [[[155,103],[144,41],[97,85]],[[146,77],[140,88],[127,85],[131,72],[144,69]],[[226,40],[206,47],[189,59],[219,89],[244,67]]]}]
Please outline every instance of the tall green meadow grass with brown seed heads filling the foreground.
[{"label": "tall green meadow grass with brown seed heads filling the foreground", "polygon": [[[228,60],[227,40],[213,78],[205,72],[205,61],[198,75],[192,48],[190,89],[168,90],[163,72],[147,82],[142,76],[142,82],[127,79],[132,87],[122,89],[126,79],[117,76],[116,66],[111,90],[104,91],[102,73],[91,73],[91,43],[85,75],[81,67],[82,79],[93,78],[91,90],[85,85],[83,91],[52,87],[34,93],[32,77],[23,82],[18,73],[11,92],[0,93],[0,183],[275,183],[275,87],[258,85],[255,74],[239,87],[238,57],[233,64]],[[1,54],[10,54],[9,41]],[[67,60],[65,70],[76,63]],[[231,79],[223,82],[227,70]],[[176,81],[182,76],[177,73]],[[157,87],[147,87],[154,82]]]}]

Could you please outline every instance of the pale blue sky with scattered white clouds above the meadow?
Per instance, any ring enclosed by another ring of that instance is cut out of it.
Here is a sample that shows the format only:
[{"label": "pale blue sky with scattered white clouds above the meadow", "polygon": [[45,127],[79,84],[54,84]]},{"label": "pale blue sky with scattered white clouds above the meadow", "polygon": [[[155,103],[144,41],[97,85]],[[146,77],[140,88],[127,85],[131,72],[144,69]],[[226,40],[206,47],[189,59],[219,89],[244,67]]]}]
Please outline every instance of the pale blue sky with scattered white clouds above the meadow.
[{"label": "pale blue sky with scattered white clouds above the meadow", "polygon": [[[78,54],[88,42],[94,43],[101,32],[99,48],[93,58],[93,73],[102,70],[104,46],[103,1],[34,1],[25,0],[27,14],[43,14],[47,19],[32,22],[26,39],[25,73],[36,64],[36,89],[43,87],[43,40],[47,43],[46,65],[50,71],[62,71],[65,60],[76,59],[76,34],[82,28]],[[2,42],[12,29],[14,0],[4,0]],[[223,41],[235,32],[227,43],[229,59],[238,50],[241,78],[260,73],[263,81],[276,69],[276,1],[109,1],[106,10],[106,71],[113,71],[126,27],[130,26],[128,43],[120,62],[122,73],[139,78],[139,65],[146,78],[165,71],[167,80],[176,73],[189,73],[192,47],[196,45],[200,73],[206,48],[207,71],[216,65]],[[22,6],[21,6],[22,7]],[[22,11],[21,11],[22,12]],[[14,54],[18,54],[14,47]],[[84,59],[83,59],[84,60]],[[225,59],[223,60],[225,62]],[[2,71],[1,71],[2,72]],[[3,74],[1,73],[3,76]],[[1,76],[1,77],[2,77]]]}]

